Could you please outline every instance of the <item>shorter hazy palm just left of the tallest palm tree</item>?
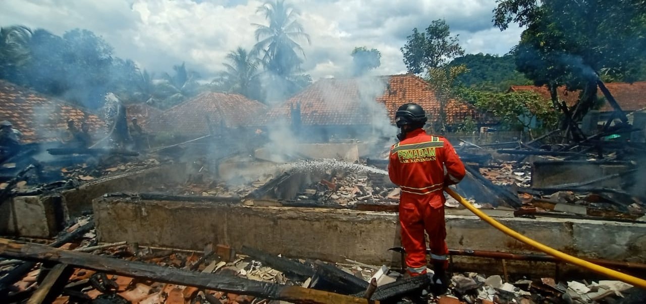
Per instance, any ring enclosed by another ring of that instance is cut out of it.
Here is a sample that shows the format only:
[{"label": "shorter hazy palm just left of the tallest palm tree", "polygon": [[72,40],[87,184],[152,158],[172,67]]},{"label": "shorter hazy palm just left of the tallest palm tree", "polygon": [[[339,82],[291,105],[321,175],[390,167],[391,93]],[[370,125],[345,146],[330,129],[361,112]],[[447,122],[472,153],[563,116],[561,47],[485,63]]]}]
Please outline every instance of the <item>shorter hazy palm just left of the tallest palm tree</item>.
[{"label": "shorter hazy palm just left of the tallest palm tree", "polygon": [[226,91],[251,98],[254,95],[251,92],[254,81],[258,80],[258,61],[242,47],[229,52],[226,59],[229,63],[223,65],[227,71],[222,72],[216,81],[223,83]]}]

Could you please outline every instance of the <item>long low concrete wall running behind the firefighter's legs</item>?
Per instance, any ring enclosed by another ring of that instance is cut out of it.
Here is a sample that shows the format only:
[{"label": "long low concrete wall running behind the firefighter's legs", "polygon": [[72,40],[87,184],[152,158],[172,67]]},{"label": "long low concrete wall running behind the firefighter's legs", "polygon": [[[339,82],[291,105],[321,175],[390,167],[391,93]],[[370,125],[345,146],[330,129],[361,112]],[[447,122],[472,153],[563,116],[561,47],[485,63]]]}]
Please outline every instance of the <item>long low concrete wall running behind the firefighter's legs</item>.
[{"label": "long low concrete wall running behind the firefighter's legs", "polygon": [[[214,242],[291,257],[399,263],[399,255],[387,251],[400,245],[396,213],[101,198],[94,201],[94,215],[101,242],[194,250]],[[446,221],[449,248],[533,252],[475,216],[447,215]],[[646,261],[646,224],[514,217],[499,221],[570,254]]]}]

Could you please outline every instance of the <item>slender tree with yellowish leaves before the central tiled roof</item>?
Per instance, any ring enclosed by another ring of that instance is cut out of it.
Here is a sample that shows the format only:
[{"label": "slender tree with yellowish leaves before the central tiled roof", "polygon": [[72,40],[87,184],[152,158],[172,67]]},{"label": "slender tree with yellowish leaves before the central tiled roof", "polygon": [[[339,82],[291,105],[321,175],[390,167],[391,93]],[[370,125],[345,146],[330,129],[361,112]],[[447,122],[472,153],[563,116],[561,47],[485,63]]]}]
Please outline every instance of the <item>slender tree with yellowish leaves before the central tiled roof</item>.
[{"label": "slender tree with yellowish leaves before the central tiled roof", "polygon": [[458,65],[456,67],[432,67],[428,69],[426,81],[430,85],[435,98],[439,103],[439,127],[440,131],[446,132],[446,105],[449,100],[455,98],[455,88],[457,87],[457,77],[466,72],[466,66]]}]

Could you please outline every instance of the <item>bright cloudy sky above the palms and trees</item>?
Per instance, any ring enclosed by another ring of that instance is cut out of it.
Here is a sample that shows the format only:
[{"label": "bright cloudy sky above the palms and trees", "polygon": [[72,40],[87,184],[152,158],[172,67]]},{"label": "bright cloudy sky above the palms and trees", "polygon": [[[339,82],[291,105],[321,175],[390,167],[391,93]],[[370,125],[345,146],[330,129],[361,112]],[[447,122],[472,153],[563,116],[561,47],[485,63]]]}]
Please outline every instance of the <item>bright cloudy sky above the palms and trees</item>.
[{"label": "bright cloudy sky above the palms and trees", "polygon": [[[287,0],[289,1],[289,0]],[[3,0],[3,26],[23,24],[63,34],[87,28],[151,71],[171,71],[186,61],[209,76],[222,69],[230,50],[255,43],[251,23],[264,23],[251,0]],[[303,65],[314,79],[344,76],[354,47],[379,49],[382,65],[375,74],[406,71],[400,48],[412,28],[426,28],[444,18],[468,53],[505,54],[516,45],[520,30],[492,27],[490,0],[293,0],[311,36],[303,43]]]}]

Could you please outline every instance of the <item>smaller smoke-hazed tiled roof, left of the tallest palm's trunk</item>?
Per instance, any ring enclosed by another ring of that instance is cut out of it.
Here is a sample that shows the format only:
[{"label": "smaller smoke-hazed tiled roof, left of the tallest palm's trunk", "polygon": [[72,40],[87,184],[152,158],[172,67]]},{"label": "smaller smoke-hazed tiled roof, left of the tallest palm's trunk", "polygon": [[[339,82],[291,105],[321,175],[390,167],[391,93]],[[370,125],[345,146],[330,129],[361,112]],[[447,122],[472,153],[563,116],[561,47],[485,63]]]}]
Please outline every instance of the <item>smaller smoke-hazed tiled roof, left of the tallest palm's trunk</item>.
[{"label": "smaller smoke-hazed tiled roof, left of the tallest palm's trunk", "polygon": [[180,135],[207,135],[207,116],[216,128],[234,128],[256,125],[255,120],[266,111],[264,104],[240,94],[208,92],[164,111],[143,125],[143,129]]}]

